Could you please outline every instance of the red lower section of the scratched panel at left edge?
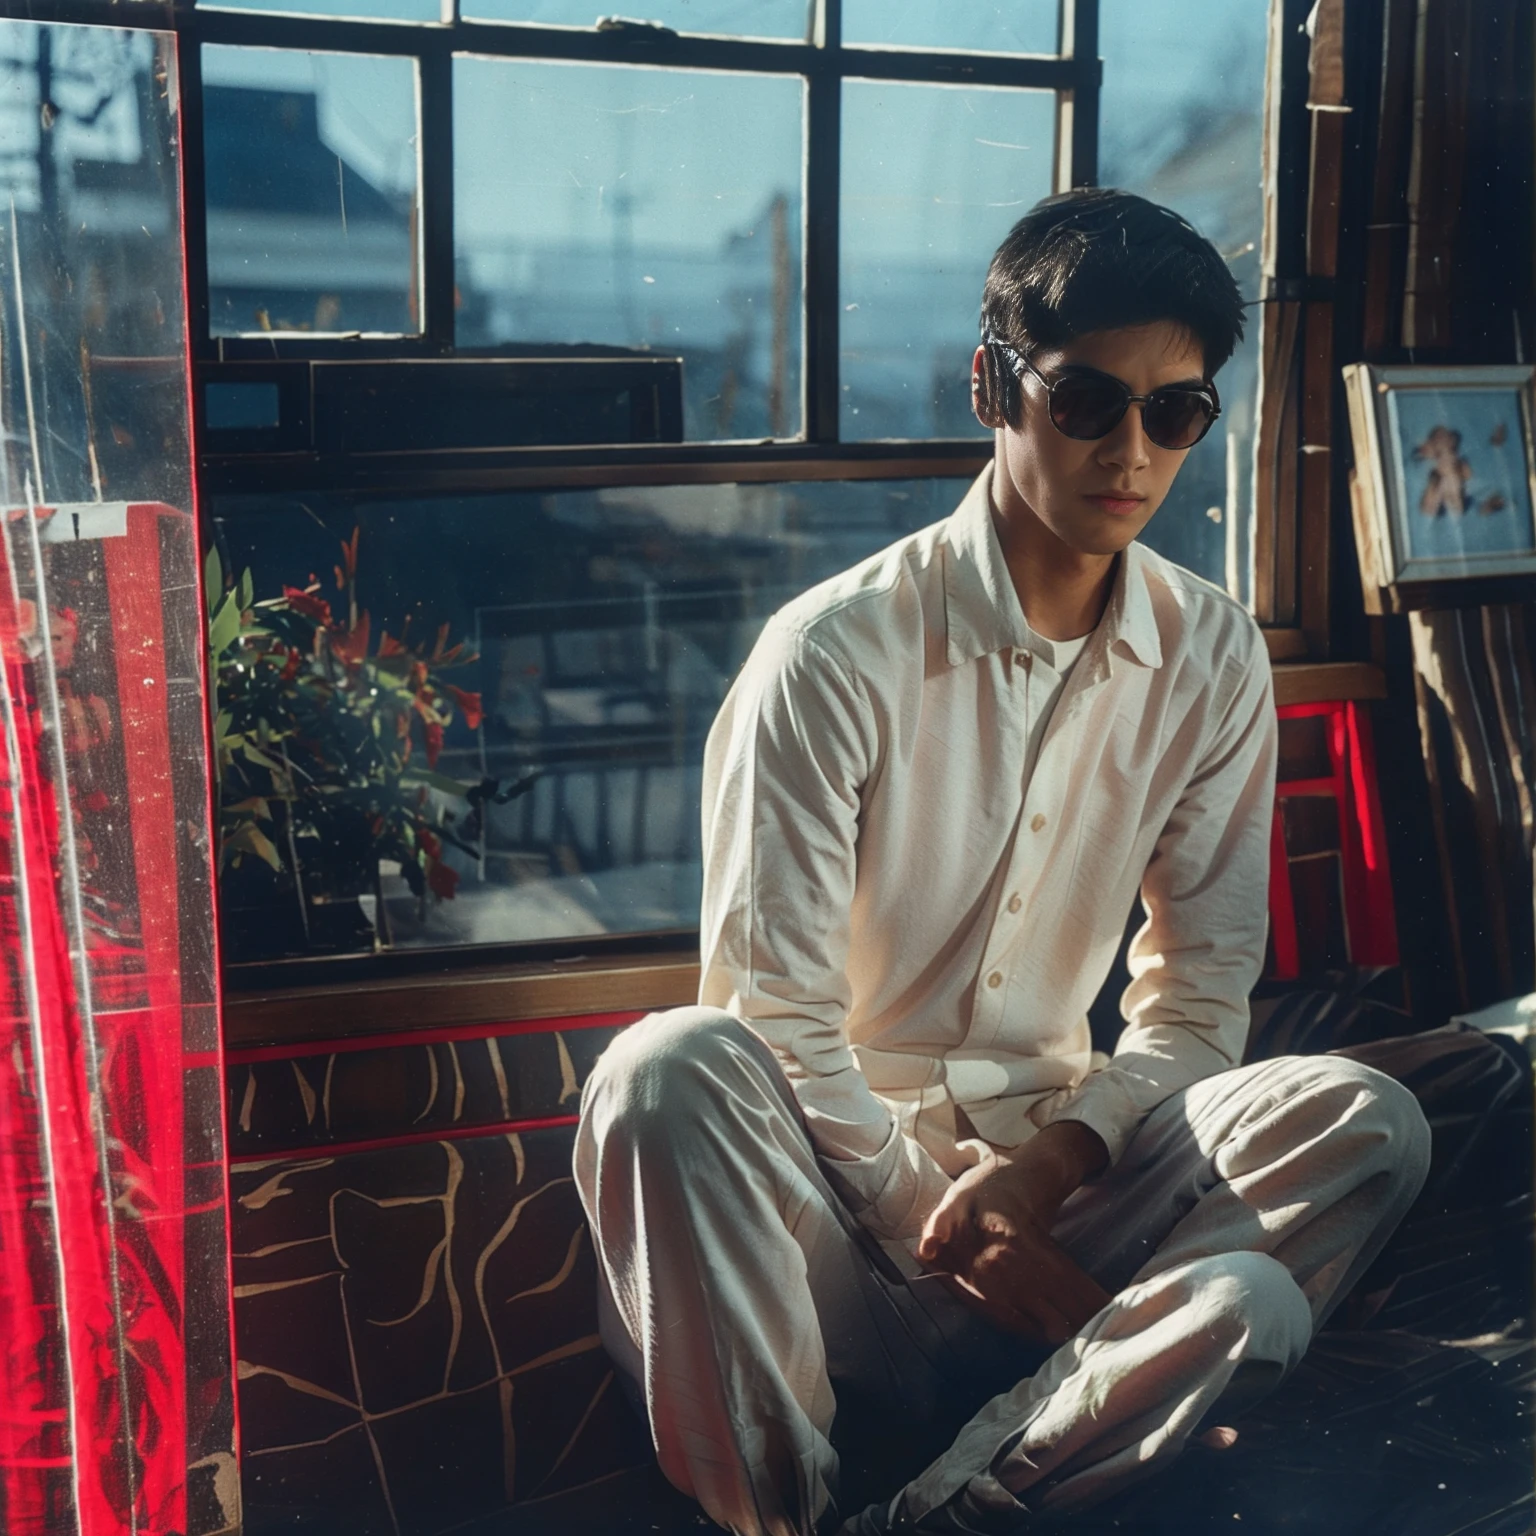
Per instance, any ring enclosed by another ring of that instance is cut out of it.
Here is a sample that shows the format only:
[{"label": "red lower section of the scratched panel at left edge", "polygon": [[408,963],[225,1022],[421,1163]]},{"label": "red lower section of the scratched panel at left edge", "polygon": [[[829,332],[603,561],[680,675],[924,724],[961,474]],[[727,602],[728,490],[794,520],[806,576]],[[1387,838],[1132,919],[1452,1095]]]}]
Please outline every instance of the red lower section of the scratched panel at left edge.
[{"label": "red lower section of the scratched panel at left edge", "polygon": [[0,1499],[8,1536],[172,1536],[235,1514],[189,1507],[210,1433],[233,1471],[232,1418],[210,1428],[206,1407],[229,1399],[227,1356],[186,1347],[189,1306],[209,1306],[189,1218],[215,1215],[198,1273],[227,1249],[223,1169],[212,1195],[192,1177],[223,1144],[218,1095],[189,1097],[209,1052],[183,1052],[183,928],[212,923],[184,897],[210,872],[177,814],[167,660],[186,659],[164,608],[198,601],[197,564],[170,507],[91,539],[48,521],[0,525]]}]

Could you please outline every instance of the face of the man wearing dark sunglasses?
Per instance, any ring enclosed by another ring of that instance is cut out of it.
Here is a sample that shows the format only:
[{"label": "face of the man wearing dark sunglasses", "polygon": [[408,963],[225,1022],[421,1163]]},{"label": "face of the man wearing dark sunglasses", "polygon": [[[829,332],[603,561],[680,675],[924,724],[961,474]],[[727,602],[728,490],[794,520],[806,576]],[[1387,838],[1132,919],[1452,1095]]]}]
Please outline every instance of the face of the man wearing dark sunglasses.
[{"label": "face of the man wearing dark sunglasses", "polygon": [[[1097,369],[1132,395],[1204,379],[1200,341],[1170,321],[1097,330],[1037,352],[1031,361],[1046,379],[1066,367]],[[1118,553],[1163,505],[1189,450],[1149,441],[1140,406],[1129,406],[1107,436],[1080,442],[1052,425],[1037,378],[1026,372],[1020,390],[1018,425],[1000,433],[992,492],[998,511],[1005,519],[1034,515],[1081,554]]]}]

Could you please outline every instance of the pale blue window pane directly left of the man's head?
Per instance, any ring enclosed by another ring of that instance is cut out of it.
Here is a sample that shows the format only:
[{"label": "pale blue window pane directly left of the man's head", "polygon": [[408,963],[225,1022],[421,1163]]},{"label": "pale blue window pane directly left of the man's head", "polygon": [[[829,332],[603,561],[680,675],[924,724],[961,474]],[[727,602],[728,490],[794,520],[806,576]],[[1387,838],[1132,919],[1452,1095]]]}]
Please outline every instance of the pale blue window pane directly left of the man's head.
[{"label": "pale blue window pane directly left of the man's head", "polygon": [[982,283],[1054,164],[1051,92],[845,83],[843,438],[985,436]]}]

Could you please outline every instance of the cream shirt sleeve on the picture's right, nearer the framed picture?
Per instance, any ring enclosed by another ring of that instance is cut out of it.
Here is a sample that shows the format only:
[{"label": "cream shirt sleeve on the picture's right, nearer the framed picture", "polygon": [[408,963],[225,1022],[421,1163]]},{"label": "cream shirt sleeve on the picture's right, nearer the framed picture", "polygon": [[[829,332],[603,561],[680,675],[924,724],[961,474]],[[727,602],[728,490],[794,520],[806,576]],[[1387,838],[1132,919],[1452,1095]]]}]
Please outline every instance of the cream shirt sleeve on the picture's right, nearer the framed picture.
[{"label": "cream shirt sleeve on the picture's right, nearer the framed picture", "polygon": [[1278,737],[1263,641],[1224,674],[1235,680],[1218,690],[1201,763],[1141,882],[1146,923],[1130,943],[1115,1054],[1051,1117],[1097,1130],[1111,1164],[1152,1109],[1238,1066],[1247,1043],[1269,923]]}]

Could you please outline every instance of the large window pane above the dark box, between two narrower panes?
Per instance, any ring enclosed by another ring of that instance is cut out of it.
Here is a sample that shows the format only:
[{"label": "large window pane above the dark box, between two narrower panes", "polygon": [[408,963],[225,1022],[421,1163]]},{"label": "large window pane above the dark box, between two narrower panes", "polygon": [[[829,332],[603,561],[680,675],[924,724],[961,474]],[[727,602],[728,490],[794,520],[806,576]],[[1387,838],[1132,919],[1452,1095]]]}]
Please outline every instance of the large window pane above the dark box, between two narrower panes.
[{"label": "large window pane above the dark box, between two narrower panes", "polygon": [[458,58],[461,346],[684,359],[688,438],[800,432],[799,77]]}]

